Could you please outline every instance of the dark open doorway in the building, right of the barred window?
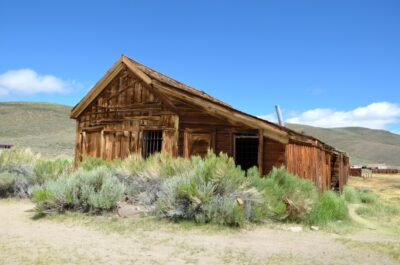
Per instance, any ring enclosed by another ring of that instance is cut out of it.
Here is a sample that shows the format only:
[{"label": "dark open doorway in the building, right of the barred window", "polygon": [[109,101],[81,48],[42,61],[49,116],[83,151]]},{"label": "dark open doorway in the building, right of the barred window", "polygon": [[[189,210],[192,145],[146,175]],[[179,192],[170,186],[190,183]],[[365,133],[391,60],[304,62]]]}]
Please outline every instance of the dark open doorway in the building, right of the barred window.
[{"label": "dark open doorway in the building, right of the barred window", "polygon": [[235,162],[243,170],[258,166],[257,135],[235,135]]}]

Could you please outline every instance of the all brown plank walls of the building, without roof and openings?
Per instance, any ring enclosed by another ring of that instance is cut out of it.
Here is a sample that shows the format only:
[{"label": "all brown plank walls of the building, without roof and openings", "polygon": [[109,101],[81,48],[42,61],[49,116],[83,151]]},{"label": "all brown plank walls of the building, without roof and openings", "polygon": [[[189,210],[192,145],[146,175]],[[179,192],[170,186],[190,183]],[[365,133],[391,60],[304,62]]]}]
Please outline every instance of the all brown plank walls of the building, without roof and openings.
[{"label": "all brown plank walls of the building, without roof and openings", "polygon": [[[118,74],[77,119],[76,164],[85,156],[112,160],[141,153],[145,130],[162,130],[162,151],[185,157],[193,152],[204,155],[207,147],[234,156],[236,133],[263,135],[172,96],[168,102],[159,96],[129,70]],[[319,148],[285,145],[265,136],[260,143],[258,164],[263,175],[286,165],[293,174],[314,181],[320,190],[329,189],[332,174],[338,177],[341,190],[347,183],[349,161],[343,155],[332,160],[331,153]]]}]

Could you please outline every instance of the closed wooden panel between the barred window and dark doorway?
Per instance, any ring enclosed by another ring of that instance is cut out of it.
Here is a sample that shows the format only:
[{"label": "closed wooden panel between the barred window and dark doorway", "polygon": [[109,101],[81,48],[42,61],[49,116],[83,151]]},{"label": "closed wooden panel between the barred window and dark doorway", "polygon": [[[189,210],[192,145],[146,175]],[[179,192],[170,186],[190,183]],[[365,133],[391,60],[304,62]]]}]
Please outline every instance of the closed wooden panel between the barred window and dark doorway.
[{"label": "closed wooden panel between the barred window and dark doorway", "polygon": [[194,155],[205,157],[209,149],[215,149],[215,132],[186,130],[184,137],[185,158],[190,158]]}]

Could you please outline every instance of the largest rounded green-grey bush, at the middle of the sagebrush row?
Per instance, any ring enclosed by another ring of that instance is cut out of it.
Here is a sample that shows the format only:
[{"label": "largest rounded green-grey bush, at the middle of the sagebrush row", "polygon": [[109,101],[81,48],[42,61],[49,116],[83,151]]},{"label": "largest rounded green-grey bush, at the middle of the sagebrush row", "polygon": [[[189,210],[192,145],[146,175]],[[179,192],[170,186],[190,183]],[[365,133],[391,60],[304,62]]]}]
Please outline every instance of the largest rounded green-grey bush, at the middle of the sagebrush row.
[{"label": "largest rounded green-grey bush, at the middle of the sagebrush row", "polygon": [[241,226],[260,218],[260,192],[249,186],[245,172],[225,154],[194,156],[190,170],[165,179],[158,192],[156,214],[197,223]]}]

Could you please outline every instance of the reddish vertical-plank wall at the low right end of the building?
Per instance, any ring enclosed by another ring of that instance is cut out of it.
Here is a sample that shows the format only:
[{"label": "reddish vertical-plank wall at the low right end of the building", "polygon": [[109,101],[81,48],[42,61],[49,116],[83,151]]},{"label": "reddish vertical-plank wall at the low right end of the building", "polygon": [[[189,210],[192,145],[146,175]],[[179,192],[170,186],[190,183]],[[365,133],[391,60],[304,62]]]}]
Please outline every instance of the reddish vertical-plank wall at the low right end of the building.
[{"label": "reddish vertical-plank wall at the low right end of the building", "polygon": [[316,147],[286,145],[286,167],[289,172],[309,179],[319,190],[328,190],[331,185],[331,154]]}]

